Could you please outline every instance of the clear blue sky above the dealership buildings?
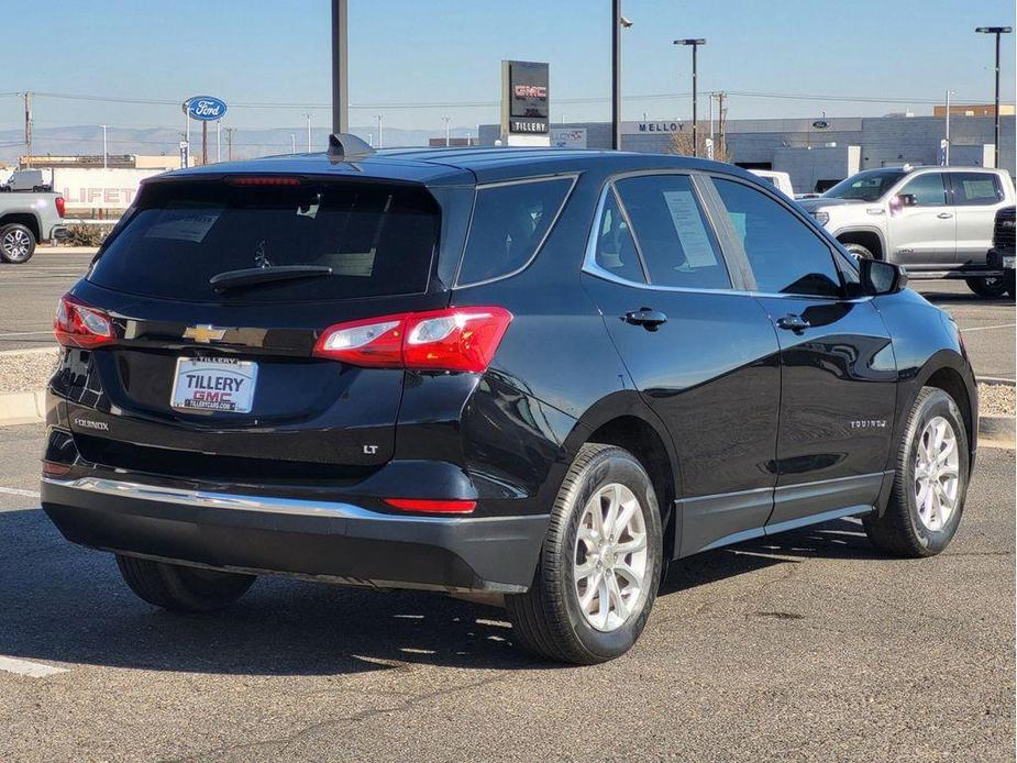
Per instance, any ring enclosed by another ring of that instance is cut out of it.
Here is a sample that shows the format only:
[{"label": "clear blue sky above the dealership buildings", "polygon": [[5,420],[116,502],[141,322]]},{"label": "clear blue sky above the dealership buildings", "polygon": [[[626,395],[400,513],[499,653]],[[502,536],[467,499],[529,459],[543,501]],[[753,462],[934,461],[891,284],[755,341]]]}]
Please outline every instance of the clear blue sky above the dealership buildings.
[{"label": "clear blue sky above the dealership buildings", "polygon": [[[299,126],[318,106],[329,121],[328,0],[3,0],[0,93],[38,92],[167,99],[210,93],[231,104],[239,128]],[[984,24],[1015,24],[1014,0],[628,0],[627,96],[688,92],[689,51],[671,42],[703,36],[701,91],[864,96],[896,103],[787,100],[732,95],[731,118],[873,115],[949,87],[955,98],[990,102],[992,38]],[[496,102],[500,59],[551,63],[552,115],[608,119],[609,0],[350,0],[350,84],[354,125],[440,131],[498,120],[496,106],[398,109],[394,102]],[[1014,37],[1004,37],[1003,97],[1014,100]],[[604,99],[567,102],[567,99]],[[632,98],[624,119],[687,118],[687,97]],[[103,103],[40,96],[40,128],[106,122],[176,125],[178,106]],[[21,124],[20,100],[0,98],[0,129]]]}]

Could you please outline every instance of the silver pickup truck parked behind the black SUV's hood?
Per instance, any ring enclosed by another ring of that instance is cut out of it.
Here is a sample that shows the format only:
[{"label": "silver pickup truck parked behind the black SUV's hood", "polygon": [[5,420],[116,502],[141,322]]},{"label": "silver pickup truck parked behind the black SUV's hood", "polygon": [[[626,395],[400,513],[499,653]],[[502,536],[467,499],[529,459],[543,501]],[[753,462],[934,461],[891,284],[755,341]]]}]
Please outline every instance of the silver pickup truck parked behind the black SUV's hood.
[{"label": "silver pickup truck parked behind the black SUV's hood", "polygon": [[1007,291],[1003,270],[986,259],[996,212],[1014,203],[1005,170],[867,169],[799,203],[858,257],[904,265],[918,278],[963,278],[983,297]]}]

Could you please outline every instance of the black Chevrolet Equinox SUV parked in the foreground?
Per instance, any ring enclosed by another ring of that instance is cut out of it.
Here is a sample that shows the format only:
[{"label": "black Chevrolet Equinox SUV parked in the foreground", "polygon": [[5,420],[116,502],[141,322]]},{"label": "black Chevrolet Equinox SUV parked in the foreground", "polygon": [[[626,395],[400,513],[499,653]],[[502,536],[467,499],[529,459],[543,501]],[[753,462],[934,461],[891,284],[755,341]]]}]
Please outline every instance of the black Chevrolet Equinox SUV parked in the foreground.
[{"label": "black Chevrolet Equinox SUV parked in the foreground", "polygon": [[60,303],[43,507],[146,601],[487,593],[595,663],[671,560],[950,542],[974,379],[900,268],[730,165],[351,143],[146,181]]}]

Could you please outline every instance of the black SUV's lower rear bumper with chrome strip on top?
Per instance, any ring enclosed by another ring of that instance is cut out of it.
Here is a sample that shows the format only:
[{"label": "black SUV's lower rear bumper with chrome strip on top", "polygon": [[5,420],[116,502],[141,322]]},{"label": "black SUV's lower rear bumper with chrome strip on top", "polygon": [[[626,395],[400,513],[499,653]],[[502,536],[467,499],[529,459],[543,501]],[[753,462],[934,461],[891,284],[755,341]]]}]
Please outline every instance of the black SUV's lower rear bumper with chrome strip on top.
[{"label": "black SUV's lower rear bumper with chrome strip on top", "polygon": [[449,591],[518,593],[549,517],[402,517],[354,504],[188,490],[99,477],[42,484],[67,540],[256,574]]}]

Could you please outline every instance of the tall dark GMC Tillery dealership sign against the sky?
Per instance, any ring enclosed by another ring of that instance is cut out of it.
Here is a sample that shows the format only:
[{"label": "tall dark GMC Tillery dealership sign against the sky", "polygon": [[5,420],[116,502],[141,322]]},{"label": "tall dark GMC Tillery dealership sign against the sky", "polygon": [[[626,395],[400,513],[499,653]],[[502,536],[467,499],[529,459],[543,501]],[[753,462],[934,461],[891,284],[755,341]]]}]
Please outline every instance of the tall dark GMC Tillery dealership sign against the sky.
[{"label": "tall dark GMC Tillery dealership sign against the sky", "polygon": [[549,144],[550,78],[548,64],[501,62],[501,135],[509,145]]}]

